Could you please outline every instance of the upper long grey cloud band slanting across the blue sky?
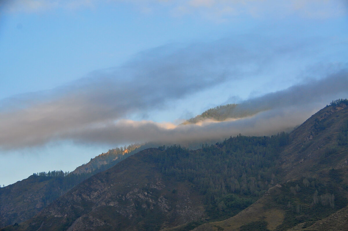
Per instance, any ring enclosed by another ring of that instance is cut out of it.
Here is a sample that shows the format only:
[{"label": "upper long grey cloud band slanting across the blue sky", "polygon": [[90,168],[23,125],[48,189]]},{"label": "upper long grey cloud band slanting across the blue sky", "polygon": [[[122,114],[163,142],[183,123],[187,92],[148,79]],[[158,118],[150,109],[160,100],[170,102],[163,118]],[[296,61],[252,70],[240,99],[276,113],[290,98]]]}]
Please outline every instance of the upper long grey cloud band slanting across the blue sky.
[{"label": "upper long grey cloud band slanting across the blue sky", "polygon": [[276,47],[268,48],[268,54],[239,47],[232,40],[164,46],[52,91],[2,100],[0,147],[40,145],[75,130],[163,107],[169,99],[259,72],[265,59],[272,60],[277,53]]}]

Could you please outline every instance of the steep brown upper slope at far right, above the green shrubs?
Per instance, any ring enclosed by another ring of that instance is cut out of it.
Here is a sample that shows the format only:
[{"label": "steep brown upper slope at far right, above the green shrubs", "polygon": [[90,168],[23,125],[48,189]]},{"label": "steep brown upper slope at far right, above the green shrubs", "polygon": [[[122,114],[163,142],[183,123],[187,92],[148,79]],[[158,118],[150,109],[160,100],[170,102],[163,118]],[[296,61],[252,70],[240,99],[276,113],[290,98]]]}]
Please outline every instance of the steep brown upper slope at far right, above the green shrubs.
[{"label": "steep brown upper slope at far right, above the green shrubs", "polygon": [[347,112],[346,104],[327,106],[290,133],[292,142],[280,155],[284,181],[347,165]]}]

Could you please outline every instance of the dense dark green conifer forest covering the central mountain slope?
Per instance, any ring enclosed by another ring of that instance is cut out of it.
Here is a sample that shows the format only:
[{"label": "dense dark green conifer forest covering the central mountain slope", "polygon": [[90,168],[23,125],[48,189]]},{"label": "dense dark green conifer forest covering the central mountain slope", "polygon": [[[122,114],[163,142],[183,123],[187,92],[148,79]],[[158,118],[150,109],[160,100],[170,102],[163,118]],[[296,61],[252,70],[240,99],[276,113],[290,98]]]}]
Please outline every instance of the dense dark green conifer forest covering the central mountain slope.
[{"label": "dense dark green conifer forest covering the central mountain slope", "polygon": [[276,184],[276,159],[288,142],[285,132],[271,137],[239,134],[196,151],[159,147],[164,152],[154,158],[162,173],[190,182],[204,195],[209,216],[221,219],[251,205]]}]

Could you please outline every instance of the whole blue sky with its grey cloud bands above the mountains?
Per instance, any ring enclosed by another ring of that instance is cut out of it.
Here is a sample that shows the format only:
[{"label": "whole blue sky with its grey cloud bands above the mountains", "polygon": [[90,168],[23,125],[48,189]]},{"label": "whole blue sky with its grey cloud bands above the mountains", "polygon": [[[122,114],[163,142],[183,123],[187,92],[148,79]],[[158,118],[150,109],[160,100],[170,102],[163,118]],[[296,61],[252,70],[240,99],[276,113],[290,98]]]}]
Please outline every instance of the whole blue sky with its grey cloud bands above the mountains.
[{"label": "whole blue sky with its grey cloud bands above the mountains", "polygon": [[[348,97],[344,0],[0,3],[0,184],[135,142],[270,135]],[[238,103],[253,116],[180,125]]]}]

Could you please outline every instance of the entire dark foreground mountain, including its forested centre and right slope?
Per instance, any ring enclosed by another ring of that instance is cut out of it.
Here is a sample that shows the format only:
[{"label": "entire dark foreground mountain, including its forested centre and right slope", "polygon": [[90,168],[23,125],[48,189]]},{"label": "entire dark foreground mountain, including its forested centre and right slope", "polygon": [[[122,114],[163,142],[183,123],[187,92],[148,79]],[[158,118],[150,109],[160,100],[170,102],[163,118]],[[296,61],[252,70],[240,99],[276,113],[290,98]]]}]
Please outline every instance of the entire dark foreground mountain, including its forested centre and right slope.
[{"label": "entire dark foreground mountain, including its forested centre and right slope", "polygon": [[347,105],[290,134],[142,150],[2,230],[347,230]]}]

